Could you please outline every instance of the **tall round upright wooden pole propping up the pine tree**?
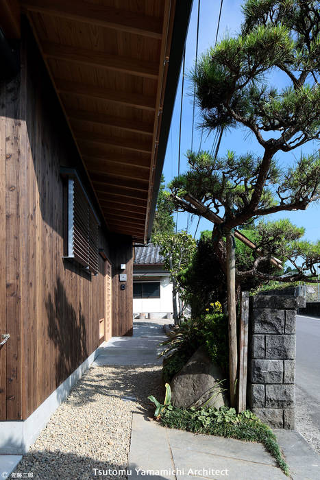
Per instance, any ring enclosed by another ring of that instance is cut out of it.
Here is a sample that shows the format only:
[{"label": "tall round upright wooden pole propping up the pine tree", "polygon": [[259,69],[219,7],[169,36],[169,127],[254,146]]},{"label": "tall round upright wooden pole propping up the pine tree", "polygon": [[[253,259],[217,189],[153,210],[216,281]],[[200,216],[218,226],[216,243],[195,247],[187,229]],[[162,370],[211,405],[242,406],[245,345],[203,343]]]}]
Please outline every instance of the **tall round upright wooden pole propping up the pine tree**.
[{"label": "tall round upright wooden pole propping up the pine tree", "polygon": [[236,407],[238,347],[236,341],[236,245],[234,232],[226,235],[227,243],[227,316],[229,331],[230,406]]}]

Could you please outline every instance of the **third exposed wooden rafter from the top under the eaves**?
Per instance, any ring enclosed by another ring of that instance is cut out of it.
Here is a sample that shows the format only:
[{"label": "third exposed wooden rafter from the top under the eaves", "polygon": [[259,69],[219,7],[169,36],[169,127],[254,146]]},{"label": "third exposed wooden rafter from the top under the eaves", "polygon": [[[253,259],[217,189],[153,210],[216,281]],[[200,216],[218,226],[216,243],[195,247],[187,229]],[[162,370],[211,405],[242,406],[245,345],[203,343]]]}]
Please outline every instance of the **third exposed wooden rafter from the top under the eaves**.
[{"label": "third exposed wooden rafter from the top under the eaves", "polygon": [[122,104],[141,110],[149,110],[154,112],[156,102],[154,97],[141,95],[140,93],[115,91],[109,88],[101,88],[97,85],[86,85],[77,82],[69,82],[67,80],[55,79],[56,88],[59,93],[67,95],[77,95],[86,98],[99,98],[108,100],[116,104]]}]

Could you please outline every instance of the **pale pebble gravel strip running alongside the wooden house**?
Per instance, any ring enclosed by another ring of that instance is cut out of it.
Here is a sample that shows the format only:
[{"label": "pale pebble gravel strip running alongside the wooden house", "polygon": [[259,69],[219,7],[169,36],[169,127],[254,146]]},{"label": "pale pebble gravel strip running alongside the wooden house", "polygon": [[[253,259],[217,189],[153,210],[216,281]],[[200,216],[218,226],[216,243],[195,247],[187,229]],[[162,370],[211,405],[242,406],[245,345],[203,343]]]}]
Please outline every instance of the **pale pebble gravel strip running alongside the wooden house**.
[{"label": "pale pebble gravel strip running alongside the wooden house", "polygon": [[[160,372],[160,366],[90,368],[53,413],[15,472],[30,472],[41,480],[75,480],[99,478],[94,468],[125,468],[132,412],[152,412],[147,396],[162,397]],[[125,401],[123,396],[136,400]]]}]

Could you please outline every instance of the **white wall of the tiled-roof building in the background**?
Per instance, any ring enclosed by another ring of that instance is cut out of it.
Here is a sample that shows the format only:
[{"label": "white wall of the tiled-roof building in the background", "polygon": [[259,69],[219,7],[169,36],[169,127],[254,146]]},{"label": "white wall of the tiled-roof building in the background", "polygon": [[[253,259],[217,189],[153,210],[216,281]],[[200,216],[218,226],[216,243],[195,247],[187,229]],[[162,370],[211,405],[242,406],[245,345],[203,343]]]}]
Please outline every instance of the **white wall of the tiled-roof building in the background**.
[{"label": "white wall of the tiled-roof building in the background", "polygon": [[[152,277],[148,278],[149,281]],[[169,275],[160,280],[160,298],[134,298],[134,313],[167,313],[172,312],[172,283]]]}]

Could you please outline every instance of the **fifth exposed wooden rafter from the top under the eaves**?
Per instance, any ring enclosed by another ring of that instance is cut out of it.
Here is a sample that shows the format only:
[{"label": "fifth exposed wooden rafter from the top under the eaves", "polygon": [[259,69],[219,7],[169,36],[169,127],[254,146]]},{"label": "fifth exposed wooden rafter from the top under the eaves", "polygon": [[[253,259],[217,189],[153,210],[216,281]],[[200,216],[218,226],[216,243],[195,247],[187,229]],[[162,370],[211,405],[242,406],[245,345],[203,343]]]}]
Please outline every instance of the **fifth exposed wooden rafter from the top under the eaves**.
[{"label": "fifth exposed wooden rafter from the top under the eaves", "polygon": [[76,139],[82,139],[82,142],[103,143],[103,145],[112,145],[112,147],[134,150],[134,152],[143,152],[151,154],[152,144],[137,140],[121,138],[121,136],[106,135],[99,132],[90,132],[88,130],[79,130],[73,128]]}]

